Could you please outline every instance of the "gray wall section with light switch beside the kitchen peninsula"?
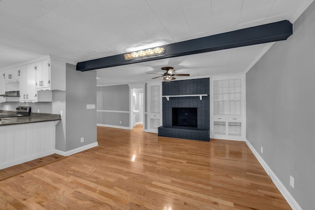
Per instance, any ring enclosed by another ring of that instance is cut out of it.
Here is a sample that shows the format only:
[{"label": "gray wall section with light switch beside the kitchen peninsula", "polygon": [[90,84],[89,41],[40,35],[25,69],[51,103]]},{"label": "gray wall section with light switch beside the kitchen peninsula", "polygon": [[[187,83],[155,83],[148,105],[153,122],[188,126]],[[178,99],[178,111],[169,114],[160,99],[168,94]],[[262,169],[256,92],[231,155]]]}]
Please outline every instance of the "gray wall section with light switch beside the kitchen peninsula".
[{"label": "gray wall section with light switch beside the kitchen peninsula", "polygon": [[97,142],[96,109],[87,109],[87,104],[96,105],[96,71],[75,68],[66,63],[66,151]]}]

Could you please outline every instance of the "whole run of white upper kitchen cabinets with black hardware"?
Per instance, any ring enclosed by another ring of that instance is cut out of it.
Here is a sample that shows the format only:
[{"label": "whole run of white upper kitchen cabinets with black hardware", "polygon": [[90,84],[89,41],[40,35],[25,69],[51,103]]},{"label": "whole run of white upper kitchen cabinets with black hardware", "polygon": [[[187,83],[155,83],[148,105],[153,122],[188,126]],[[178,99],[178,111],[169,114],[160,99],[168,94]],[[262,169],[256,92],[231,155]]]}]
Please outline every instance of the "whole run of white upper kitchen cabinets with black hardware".
[{"label": "whole run of white upper kitchen cabinets with black hardware", "polygon": [[[54,69],[53,73],[51,68]],[[20,98],[0,97],[0,102],[49,102],[52,101],[51,90],[65,90],[64,84],[65,62],[46,56],[0,70],[0,94],[20,90]]]}]

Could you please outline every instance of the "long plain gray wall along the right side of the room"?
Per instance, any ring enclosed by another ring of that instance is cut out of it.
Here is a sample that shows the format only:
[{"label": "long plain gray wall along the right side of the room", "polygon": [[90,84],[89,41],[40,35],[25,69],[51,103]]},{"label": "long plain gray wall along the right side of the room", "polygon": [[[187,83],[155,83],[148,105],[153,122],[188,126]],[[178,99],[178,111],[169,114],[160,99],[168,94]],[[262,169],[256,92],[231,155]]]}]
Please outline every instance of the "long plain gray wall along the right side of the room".
[{"label": "long plain gray wall along the right side of the room", "polygon": [[[315,207],[315,3],[246,74],[247,139],[304,210]],[[294,189],[289,176],[294,178]]]}]

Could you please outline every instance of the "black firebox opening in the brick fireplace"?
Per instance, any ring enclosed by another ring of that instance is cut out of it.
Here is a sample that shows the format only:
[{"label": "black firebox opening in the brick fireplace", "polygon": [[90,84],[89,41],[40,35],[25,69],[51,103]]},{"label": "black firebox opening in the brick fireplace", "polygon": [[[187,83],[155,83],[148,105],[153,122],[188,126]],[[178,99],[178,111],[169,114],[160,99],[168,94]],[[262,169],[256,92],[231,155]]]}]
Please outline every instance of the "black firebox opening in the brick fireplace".
[{"label": "black firebox opening in the brick fireplace", "polygon": [[196,107],[172,107],[172,126],[197,127]]}]

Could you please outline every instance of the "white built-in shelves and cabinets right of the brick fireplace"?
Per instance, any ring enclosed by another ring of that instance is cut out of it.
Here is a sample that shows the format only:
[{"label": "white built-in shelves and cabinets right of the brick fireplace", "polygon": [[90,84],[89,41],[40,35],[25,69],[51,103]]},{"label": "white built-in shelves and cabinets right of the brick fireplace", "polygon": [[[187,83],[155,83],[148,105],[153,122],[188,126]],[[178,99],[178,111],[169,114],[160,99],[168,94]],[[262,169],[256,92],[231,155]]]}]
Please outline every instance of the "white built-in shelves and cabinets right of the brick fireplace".
[{"label": "white built-in shelves and cabinets right of the brick fireplace", "polygon": [[244,74],[211,78],[211,138],[244,140],[245,90]]}]

